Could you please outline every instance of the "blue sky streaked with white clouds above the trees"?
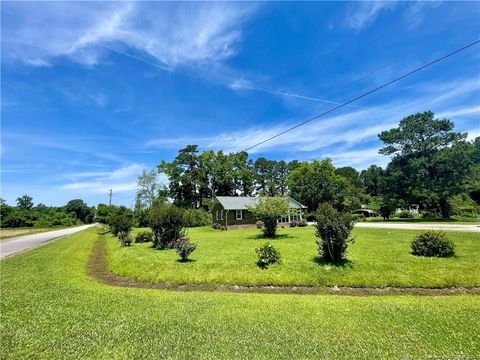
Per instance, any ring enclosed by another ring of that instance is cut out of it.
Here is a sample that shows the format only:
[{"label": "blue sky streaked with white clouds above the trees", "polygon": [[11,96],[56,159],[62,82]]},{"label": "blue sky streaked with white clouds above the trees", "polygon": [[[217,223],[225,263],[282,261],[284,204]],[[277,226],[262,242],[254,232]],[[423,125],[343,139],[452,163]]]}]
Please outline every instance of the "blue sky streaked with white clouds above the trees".
[{"label": "blue sky streaked with white clouds above the trees", "polygon": [[[1,197],[132,205],[187,144],[243,150],[480,38],[480,2],[1,3]],[[432,110],[480,135],[480,46],[251,156],[384,166]]]}]

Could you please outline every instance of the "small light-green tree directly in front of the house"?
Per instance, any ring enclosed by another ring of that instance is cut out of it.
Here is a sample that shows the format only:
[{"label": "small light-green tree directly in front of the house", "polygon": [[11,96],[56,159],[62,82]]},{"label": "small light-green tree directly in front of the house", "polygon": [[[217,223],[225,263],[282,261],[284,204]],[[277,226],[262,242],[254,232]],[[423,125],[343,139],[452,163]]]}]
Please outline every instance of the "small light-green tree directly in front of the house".
[{"label": "small light-green tree directly in front of the house", "polygon": [[249,210],[257,220],[263,222],[263,236],[275,237],[278,219],[288,214],[288,202],[282,197],[264,197]]}]

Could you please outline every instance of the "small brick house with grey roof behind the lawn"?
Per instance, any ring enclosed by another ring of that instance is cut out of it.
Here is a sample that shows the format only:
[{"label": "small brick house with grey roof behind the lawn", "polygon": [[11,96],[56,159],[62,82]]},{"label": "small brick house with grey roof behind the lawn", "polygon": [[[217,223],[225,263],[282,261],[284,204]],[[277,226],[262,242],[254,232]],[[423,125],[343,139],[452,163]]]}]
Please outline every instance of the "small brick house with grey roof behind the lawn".
[{"label": "small brick house with grey roof behind the lawn", "polygon": [[[291,197],[286,199],[288,200],[290,214],[285,214],[278,222],[290,223],[302,219],[306,206],[303,206]],[[226,227],[255,224],[257,220],[249,210],[249,207],[254,207],[258,200],[258,197],[250,196],[217,196],[212,208],[213,224],[221,224]]]}]

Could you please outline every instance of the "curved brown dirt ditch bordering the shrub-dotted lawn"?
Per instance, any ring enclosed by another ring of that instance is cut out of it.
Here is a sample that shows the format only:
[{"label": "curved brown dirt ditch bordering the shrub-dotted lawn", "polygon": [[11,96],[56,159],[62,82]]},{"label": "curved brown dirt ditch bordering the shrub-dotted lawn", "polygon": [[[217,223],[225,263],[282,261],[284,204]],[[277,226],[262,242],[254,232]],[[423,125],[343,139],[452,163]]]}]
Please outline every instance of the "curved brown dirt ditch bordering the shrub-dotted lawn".
[{"label": "curved brown dirt ditch bordering the shrub-dotted lawn", "polygon": [[90,276],[101,283],[130,288],[162,289],[172,291],[211,291],[211,292],[238,292],[259,294],[331,294],[350,296],[381,296],[381,295],[420,295],[420,296],[445,296],[459,294],[480,295],[479,287],[455,288],[427,288],[427,287],[351,287],[351,286],[241,286],[241,285],[215,285],[215,284],[172,284],[168,282],[149,282],[131,279],[117,275],[110,271],[107,263],[105,236],[100,235],[99,240],[87,265]]}]

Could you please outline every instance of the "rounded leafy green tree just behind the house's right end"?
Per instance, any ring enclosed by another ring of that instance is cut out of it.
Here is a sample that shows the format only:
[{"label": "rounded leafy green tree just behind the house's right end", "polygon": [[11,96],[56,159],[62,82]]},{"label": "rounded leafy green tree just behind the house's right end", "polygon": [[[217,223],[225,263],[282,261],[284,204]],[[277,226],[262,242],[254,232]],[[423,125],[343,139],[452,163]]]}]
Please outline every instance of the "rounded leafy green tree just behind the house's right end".
[{"label": "rounded leafy green tree just behind the house's right end", "polygon": [[341,209],[346,194],[346,184],[335,174],[330,159],[303,162],[288,177],[291,196],[314,212],[322,202],[330,202]]}]

